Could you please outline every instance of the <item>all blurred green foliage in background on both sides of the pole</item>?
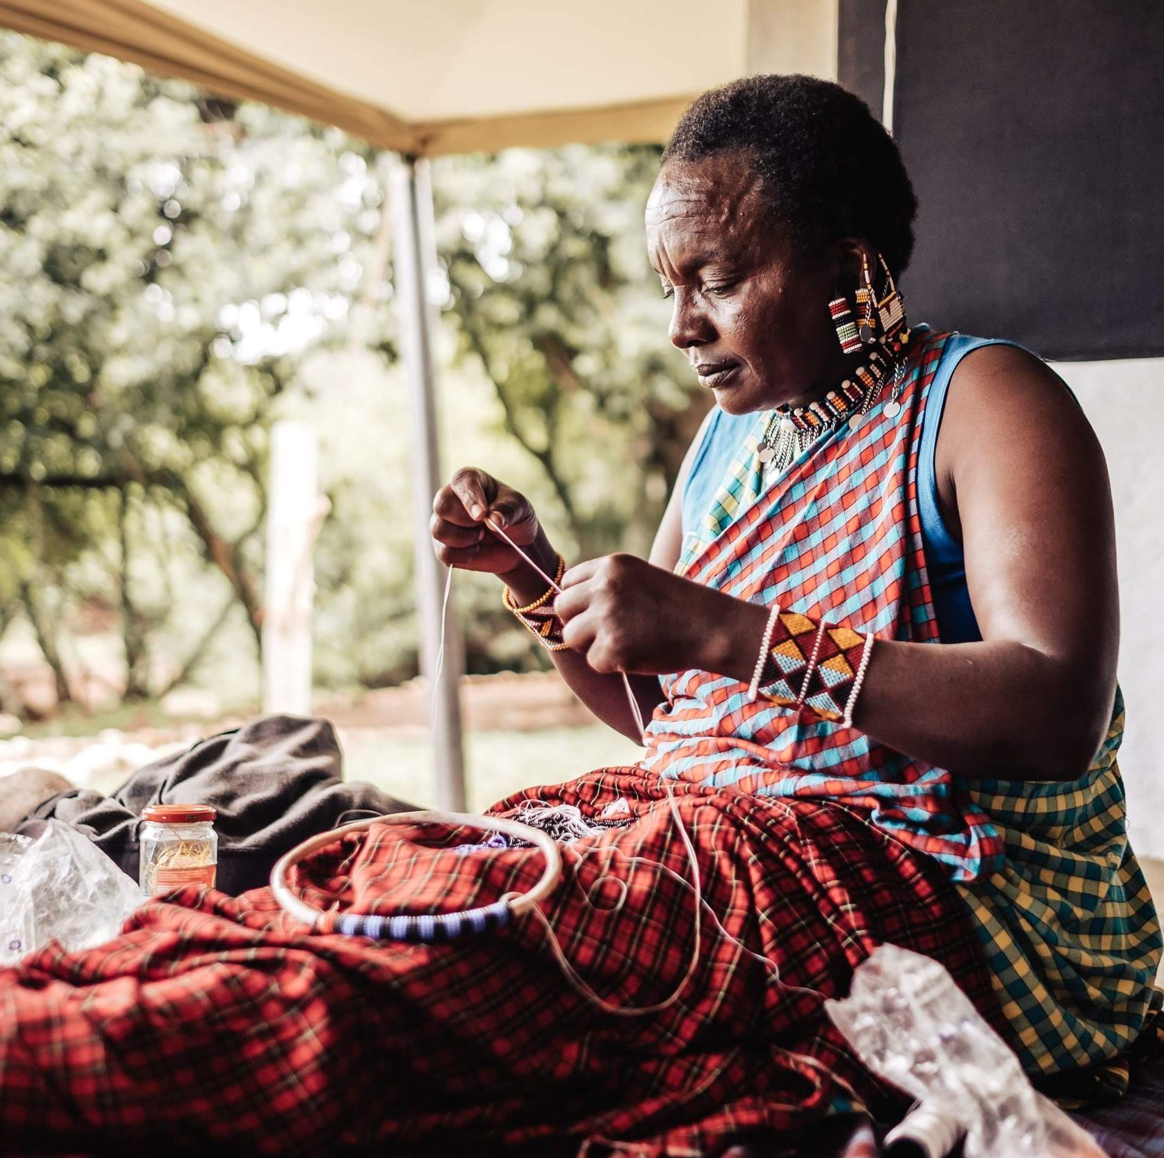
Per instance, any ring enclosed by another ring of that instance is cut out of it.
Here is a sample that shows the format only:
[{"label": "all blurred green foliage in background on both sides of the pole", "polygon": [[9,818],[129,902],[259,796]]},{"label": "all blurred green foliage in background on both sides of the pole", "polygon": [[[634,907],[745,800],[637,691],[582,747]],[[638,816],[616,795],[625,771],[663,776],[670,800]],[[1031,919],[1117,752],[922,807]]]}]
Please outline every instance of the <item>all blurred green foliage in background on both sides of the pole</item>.
[{"label": "all blurred green foliage in background on both sides of the pole", "polygon": [[[416,670],[392,163],[0,34],[0,640],[27,620],[63,694],[59,637],[105,609],[129,694],[229,673],[253,696],[284,415],[319,431],[333,504],[319,681]],[[656,163],[609,147],[434,165],[446,462],[525,489],[572,556],[646,549],[698,421],[643,247]],[[457,598],[471,670],[544,662],[492,581]]]}]

